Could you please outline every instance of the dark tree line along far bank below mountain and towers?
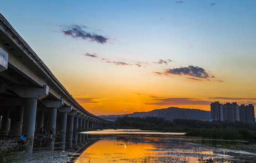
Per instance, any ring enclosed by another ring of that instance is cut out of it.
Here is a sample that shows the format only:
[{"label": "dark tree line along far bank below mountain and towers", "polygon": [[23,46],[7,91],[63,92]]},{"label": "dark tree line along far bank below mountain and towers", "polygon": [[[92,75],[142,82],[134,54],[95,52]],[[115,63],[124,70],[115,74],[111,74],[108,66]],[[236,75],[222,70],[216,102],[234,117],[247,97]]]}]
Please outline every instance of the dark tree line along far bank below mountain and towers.
[{"label": "dark tree line along far bank below mountain and towers", "polygon": [[113,128],[186,132],[186,136],[198,136],[209,139],[256,140],[256,124],[246,124],[240,121],[166,120],[162,117],[129,117],[126,115],[118,117]]}]

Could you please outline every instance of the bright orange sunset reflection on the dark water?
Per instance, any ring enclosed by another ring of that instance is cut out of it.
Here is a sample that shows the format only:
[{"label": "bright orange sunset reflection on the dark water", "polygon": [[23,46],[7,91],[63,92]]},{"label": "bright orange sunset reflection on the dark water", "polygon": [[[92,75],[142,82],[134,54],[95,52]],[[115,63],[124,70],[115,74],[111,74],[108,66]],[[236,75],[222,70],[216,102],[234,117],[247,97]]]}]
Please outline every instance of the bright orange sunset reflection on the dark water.
[{"label": "bright orange sunset reflection on the dark water", "polygon": [[123,163],[142,159],[155,149],[152,144],[126,142],[126,140],[101,139],[87,148],[75,163]]}]

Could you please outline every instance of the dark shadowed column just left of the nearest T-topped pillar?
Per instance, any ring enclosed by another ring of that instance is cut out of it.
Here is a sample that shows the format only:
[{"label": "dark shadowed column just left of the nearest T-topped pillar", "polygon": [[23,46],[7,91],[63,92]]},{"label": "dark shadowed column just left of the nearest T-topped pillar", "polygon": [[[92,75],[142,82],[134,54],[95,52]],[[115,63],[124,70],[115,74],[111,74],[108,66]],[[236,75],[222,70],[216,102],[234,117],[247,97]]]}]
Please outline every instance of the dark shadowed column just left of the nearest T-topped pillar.
[{"label": "dark shadowed column just left of the nearest T-topped pillar", "polygon": [[23,112],[24,112],[24,106],[17,106],[15,110],[13,128],[10,132],[11,136],[21,136]]}]

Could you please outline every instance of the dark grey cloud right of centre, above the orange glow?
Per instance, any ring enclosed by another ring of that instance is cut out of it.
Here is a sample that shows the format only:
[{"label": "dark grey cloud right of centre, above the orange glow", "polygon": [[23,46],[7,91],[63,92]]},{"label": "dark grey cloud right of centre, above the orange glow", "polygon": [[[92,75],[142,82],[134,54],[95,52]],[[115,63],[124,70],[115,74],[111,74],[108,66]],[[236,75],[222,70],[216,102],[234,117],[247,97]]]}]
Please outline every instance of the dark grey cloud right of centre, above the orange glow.
[{"label": "dark grey cloud right of centre, above the orange glow", "polygon": [[201,78],[214,77],[214,76],[211,76],[208,72],[206,72],[205,69],[197,66],[167,69],[166,73],[175,74],[175,75],[188,75],[192,77],[201,77]]}]

